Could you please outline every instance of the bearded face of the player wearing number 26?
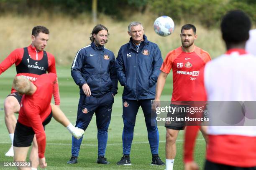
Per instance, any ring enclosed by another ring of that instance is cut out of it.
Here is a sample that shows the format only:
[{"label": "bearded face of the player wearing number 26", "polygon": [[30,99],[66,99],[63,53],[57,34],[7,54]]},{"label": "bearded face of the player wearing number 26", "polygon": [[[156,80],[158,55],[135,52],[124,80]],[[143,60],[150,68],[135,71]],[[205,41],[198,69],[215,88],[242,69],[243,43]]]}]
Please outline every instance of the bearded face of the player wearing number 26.
[{"label": "bearded face of the player wearing number 26", "polygon": [[190,30],[182,30],[182,33],[180,34],[182,46],[183,47],[190,47],[194,44],[194,40],[197,39],[197,35],[193,32],[192,29]]}]

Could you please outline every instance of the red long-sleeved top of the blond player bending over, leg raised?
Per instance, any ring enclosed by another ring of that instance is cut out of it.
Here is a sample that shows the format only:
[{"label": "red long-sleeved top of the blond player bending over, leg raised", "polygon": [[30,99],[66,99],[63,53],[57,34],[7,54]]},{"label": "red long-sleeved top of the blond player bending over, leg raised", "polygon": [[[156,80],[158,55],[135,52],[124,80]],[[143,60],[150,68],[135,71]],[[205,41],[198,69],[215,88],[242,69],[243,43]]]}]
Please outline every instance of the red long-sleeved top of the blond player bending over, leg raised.
[{"label": "red long-sleeved top of the blond player bending over, leg raised", "polygon": [[20,104],[18,122],[33,128],[36,134],[39,158],[44,158],[46,135],[42,122],[51,113],[50,103],[56,77],[57,75],[54,73],[39,75],[33,82],[37,87],[36,92],[33,95],[23,95]]}]

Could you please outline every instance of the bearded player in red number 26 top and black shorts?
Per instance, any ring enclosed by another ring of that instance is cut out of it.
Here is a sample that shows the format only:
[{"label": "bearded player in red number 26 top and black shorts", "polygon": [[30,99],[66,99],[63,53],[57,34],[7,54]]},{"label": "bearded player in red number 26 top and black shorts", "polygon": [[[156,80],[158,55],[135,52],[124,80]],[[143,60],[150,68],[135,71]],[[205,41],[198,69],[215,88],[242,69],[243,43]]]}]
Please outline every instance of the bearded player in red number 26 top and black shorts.
[{"label": "bearded player in red number 26 top and black shorts", "polygon": [[[166,77],[171,69],[173,72],[171,107],[183,108],[189,106],[188,101],[192,101],[192,92],[195,90],[197,77],[200,75],[199,70],[206,62],[211,60],[210,55],[206,51],[194,45],[194,40],[197,39],[194,25],[186,24],[182,26],[180,37],[182,46],[170,51],[161,66],[153,109],[159,107],[161,92],[164,89]],[[173,112],[172,114],[180,117],[184,113]],[[174,158],[176,156],[176,139],[179,130],[184,130],[185,126],[184,121],[178,125],[166,122],[166,170],[173,170]]]}]

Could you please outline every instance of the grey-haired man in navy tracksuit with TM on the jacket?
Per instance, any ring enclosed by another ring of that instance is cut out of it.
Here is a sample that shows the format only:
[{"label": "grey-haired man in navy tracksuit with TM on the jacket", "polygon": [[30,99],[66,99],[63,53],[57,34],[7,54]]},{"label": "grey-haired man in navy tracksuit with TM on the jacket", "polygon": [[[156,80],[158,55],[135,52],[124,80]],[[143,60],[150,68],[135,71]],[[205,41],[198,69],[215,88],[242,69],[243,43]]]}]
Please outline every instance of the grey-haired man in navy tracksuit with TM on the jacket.
[{"label": "grey-haired man in navy tracksuit with TM on the jacket", "polygon": [[[123,90],[123,157],[117,165],[131,165],[130,152],[133,129],[139,107],[142,107],[152,165],[164,165],[158,155],[159,133],[156,120],[151,117],[151,103],[156,94],[156,81],[163,63],[159,47],[147,40],[143,26],[132,22],[128,26],[130,41],[121,46],[115,65]],[[151,124],[151,121],[154,123]]]}]

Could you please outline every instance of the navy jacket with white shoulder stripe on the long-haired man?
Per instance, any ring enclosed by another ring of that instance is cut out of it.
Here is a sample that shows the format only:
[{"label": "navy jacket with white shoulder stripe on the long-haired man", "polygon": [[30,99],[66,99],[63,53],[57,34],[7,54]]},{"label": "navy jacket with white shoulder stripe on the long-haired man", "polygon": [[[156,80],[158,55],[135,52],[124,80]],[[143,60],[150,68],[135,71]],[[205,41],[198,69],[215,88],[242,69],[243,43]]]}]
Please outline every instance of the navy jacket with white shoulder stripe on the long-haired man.
[{"label": "navy jacket with white shoulder stripe on the long-haired man", "polygon": [[74,58],[71,75],[79,85],[80,95],[84,94],[82,85],[85,83],[89,85],[94,97],[100,97],[107,92],[117,94],[115,55],[104,46],[97,47],[92,42],[91,45],[81,48]]}]

